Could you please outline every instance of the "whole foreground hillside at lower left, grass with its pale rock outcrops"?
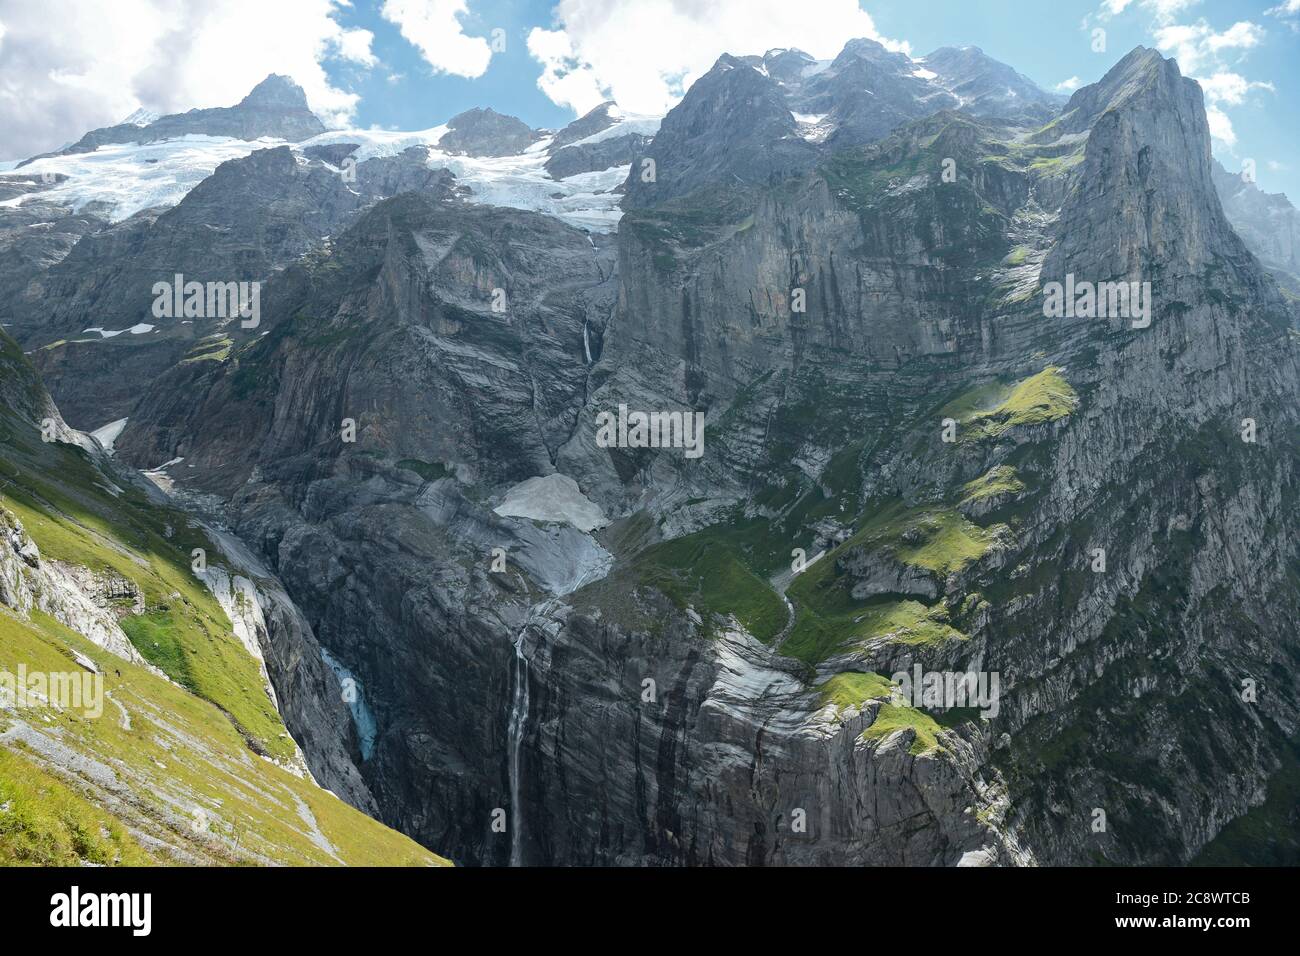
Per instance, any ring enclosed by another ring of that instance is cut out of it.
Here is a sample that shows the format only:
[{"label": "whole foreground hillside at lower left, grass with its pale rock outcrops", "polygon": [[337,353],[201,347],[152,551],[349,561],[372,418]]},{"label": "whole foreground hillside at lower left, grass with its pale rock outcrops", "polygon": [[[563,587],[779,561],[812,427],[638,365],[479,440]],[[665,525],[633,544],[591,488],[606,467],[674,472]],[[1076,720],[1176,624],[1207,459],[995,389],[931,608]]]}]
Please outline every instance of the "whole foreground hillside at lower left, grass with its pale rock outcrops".
[{"label": "whole foreground hillside at lower left, grass with its pale rock outcrops", "polygon": [[445,864],[335,796],[373,805],[283,592],[68,429],[3,332],[0,372],[0,671],[101,682],[61,709],[0,689],[0,864]]}]

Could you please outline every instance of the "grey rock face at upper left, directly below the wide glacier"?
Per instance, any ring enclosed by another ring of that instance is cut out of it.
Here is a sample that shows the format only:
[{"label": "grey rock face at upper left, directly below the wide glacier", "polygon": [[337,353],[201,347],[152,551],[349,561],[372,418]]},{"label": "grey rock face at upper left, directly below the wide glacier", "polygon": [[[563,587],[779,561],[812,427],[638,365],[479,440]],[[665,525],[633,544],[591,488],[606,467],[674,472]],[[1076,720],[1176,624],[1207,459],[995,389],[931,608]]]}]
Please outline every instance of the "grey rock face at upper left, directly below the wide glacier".
[{"label": "grey rock face at upper left, directly below the wide glacier", "polygon": [[159,319],[157,282],[173,284],[177,274],[186,284],[263,281],[384,195],[420,189],[447,196],[451,182],[446,170],[428,169],[420,148],[351,170],[303,161],[289,147],[260,150],[221,164],[165,212],[86,235],[0,312],[35,349],[70,420],[98,428],[130,416],[150,384],[187,356],[214,360],[265,330],[207,310]]}]

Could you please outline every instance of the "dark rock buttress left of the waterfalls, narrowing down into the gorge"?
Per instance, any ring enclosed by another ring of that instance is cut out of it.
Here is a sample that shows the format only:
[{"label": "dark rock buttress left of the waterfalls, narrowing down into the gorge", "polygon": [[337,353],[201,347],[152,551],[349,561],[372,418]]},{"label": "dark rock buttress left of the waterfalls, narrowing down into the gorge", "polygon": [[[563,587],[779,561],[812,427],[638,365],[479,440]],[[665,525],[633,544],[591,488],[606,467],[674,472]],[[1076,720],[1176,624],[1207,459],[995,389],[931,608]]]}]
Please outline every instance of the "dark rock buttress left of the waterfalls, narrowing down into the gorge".
[{"label": "dark rock buttress left of the waterfalls, narrowing down into the gorge", "polygon": [[[188,484],[233,494],[231,523],[364,689],[378,735],[363,771],[384,818],[458,855],[484,849],[474,822],[488,832],[506,800],[493,710],[533,593],[520,571],[552,581],[592,550],[490,506],[554,471],[611,272],[608,250],[555,220],[399,196],[276,280],[291,317],[229,367],[155,393],[118,450],[183,449]],[[344,418],[355,445],[339,441]],[[489,571],[494,548],[508,572]]]}]

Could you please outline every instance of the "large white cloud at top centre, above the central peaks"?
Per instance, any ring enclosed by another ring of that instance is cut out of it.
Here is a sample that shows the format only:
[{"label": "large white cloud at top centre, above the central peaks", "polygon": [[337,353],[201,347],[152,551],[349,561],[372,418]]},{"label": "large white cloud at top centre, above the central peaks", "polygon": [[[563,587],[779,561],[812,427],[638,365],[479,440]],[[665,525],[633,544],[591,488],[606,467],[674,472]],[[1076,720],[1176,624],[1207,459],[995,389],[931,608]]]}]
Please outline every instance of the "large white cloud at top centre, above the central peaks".
[{"label": "large white cloud at top centre, above the central peaks", "polygon": [[534,29],[529,52],[542,64],[542,92],[577,113],[604,99],[634,113],[663,113],[719,53],[797,47],[819,59],[866,36],[890,49],[857,0],[560,0],[555,29]]}]

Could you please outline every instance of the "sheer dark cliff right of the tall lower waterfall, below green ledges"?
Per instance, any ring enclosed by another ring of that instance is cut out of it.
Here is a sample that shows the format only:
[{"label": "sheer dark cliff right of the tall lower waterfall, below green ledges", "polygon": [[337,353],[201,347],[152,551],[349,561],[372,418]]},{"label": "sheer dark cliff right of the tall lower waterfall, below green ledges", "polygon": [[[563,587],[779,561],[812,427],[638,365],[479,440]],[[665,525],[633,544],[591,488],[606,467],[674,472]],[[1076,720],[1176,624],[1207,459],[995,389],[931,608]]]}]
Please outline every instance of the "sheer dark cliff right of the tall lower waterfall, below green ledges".
[{"label": "sheer dark cliff right of the tall lower waterfall, below green ledges", "polygon": [[516,862],[1026,861],[968,809],[1000,803],[980,743],[954,740],[939,758],[909,734],[863,740],[885,701],[822,701],[744,632],[708,637],[676,617],[628,632],[573,617],[530,631],[525,653],[530,799]]}]

